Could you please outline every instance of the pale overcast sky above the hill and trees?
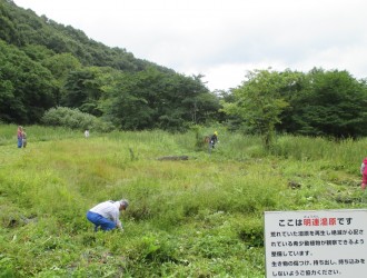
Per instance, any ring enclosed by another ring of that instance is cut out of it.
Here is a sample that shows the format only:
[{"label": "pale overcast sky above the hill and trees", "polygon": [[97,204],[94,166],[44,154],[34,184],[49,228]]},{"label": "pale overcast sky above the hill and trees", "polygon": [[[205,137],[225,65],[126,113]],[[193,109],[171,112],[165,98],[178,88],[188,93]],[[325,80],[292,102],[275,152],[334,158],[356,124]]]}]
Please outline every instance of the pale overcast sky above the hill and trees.
[{"label": "pale overcast sky above the hill and trees", "polygon": [[109,47],[235,88],[255,69],[367,77],[366,0],[14,0]]}]

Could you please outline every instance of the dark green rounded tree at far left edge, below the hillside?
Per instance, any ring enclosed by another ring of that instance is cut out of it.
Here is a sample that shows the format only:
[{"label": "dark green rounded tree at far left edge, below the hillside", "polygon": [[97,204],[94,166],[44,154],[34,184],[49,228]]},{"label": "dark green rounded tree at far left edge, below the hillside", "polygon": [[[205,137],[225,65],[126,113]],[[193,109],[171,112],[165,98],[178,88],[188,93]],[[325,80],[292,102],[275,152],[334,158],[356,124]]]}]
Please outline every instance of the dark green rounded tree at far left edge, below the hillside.
[{"label": "dark green rounded tree at far left edge, below the hillside", "polygon": [[7,122],[38,122],[56,103],[57,86],[50,71],[1,40],[0,83],[0,115]]}]

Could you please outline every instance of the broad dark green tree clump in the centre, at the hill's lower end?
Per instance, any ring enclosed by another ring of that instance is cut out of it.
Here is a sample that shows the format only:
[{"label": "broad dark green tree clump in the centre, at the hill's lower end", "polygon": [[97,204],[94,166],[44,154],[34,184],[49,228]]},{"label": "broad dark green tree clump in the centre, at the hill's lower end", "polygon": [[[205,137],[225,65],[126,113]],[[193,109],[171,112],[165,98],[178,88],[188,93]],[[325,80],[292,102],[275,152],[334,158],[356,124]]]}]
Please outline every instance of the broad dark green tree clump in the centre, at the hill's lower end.
[{"label": "broad dark green tree clump in the centre, at the hill's lower end", "polygon": [[116,75],[103,87],[103,112],[122,129],[186,130],[214,118],[219,101],[195,77],[147,68]]}]

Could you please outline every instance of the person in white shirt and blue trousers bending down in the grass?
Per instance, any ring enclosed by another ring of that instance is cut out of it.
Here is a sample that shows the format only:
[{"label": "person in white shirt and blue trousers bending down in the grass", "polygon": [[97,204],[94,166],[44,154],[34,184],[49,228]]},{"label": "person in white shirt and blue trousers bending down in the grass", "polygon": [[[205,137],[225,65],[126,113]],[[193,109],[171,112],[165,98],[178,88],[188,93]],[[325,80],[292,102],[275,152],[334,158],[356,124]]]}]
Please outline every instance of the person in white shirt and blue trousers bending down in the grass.
[{"label": "person in white shirt and blue trousers bending down in the grass", "polygon": [[126,199],[119,201],[103,201],[92,207],[87,212],[87,219],[95,225],[95,231],[98,231],[98,228],[105,231],[119,228],[123,231],[119,217],[120,211],[126,210],[128,206],[129,201]]}]

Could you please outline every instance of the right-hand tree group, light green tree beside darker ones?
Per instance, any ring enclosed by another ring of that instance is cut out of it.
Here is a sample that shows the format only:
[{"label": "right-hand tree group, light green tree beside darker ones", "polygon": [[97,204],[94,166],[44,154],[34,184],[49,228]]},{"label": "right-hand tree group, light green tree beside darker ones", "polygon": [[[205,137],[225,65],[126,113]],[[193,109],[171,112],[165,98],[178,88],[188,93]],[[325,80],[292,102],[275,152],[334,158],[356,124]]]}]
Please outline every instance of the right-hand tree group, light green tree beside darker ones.
[{"label": "right-hand tree group, light green tree beside darker ones", "polygon": [[260,133],[266,145],[275,132],[357,138],[367,136],[367,86],[347,71],[313,69],[250,71],[224,100],[224,111],[242,120],[236,128]]}]

